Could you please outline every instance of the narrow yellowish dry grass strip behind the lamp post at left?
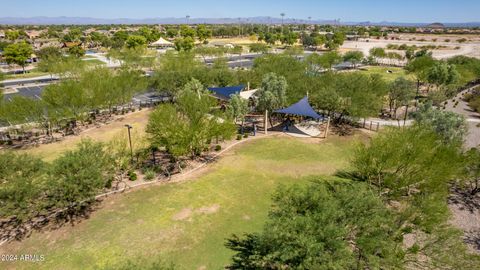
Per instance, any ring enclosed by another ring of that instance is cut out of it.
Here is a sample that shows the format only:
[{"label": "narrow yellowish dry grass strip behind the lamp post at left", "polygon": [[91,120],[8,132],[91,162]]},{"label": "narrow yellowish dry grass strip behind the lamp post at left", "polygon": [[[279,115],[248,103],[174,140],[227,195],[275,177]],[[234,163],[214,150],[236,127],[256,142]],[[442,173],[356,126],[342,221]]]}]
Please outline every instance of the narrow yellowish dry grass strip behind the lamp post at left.
[{"label": "narrow yellowish dry grass strip behind the lamp post at left", "polygon": [[92,139],[99,142],[110,142],[115,138],[125,138],[127,140],[126,124],[133,127],[132,129],[132,141],[138,143],[140,138],[144,137],[145,127],[148,122],[148,115],[151,110],[143,109],[134,113],[127,114],[117,121],[113,121],[107,125],[100,126],[99,128],[93,127],[86,130],[78,136],[67,136],[62,141],[42,144],[38,147],[29,148],[25,150],[18,150],[19,152],[28,152],[30,154],[37,155],[45,161],[53,161],[67,150],[72,150],[82,139]]}]

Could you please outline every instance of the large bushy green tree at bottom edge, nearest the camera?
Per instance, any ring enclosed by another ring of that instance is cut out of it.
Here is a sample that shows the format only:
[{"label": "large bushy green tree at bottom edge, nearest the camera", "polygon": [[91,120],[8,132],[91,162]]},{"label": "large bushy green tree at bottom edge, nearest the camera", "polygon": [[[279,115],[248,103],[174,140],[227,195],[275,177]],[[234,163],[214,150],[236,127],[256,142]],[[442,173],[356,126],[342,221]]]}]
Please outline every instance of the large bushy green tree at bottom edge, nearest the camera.
[{"label": "large bushy green tree at bottom edge, nearest the camera", "polygon": [[404,251],[394,221],[392,211],[361,183],[281,187],[262,232],[227,240],[235,252],[228,268],[401,268]]}]

